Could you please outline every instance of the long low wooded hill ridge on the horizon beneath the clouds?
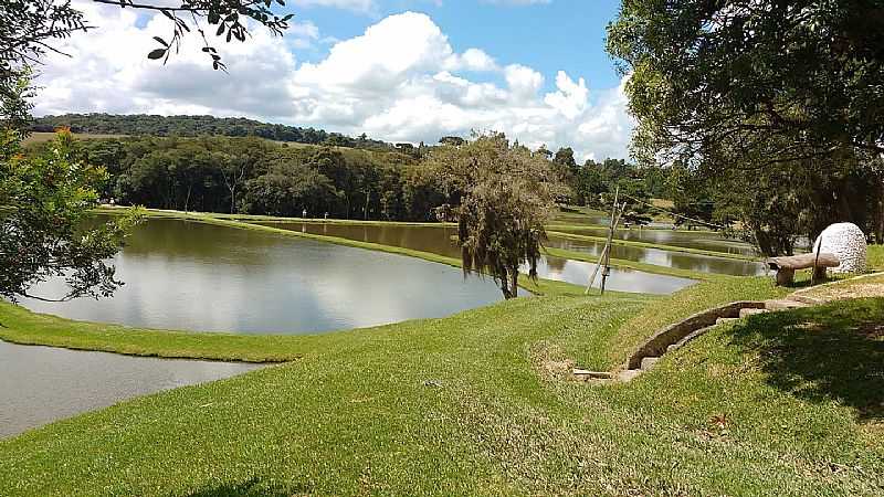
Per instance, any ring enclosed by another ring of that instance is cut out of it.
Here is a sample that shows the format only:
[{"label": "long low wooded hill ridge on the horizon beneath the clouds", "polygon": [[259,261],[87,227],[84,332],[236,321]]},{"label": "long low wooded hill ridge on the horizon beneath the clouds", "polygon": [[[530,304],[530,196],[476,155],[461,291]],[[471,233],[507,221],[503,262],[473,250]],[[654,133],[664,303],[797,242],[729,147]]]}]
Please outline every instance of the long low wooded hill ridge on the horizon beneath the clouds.
[{"label": "long low wooded hill ridge on the horizon beneath the clouds", "polygon": [[67,126],[76,134],[150,136],[257,136],[276,141],[329,145],[337,147],[393,149],[392,144],[362,135],[352,138],[339,133],[261,123],[244,117],[156,116],[147,114],[64,114],[34,119],[32,131],[52,131]]}]

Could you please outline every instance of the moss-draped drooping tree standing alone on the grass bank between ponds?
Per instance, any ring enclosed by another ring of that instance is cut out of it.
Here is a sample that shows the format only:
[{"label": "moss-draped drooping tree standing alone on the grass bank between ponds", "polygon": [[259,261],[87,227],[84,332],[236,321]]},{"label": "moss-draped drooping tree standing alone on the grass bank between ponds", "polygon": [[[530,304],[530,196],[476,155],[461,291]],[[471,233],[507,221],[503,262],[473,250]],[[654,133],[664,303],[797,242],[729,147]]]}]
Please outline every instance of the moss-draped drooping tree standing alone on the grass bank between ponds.
[{"label": "moss-draped drooping tree standing alone on the grass bank between ponds", "polygon": [[459,244],[464,276],[488,274],[504,298],[518,293],[519,267],[537,277],[544,225],[567,193],[543,152],[511,145],[503,134],[478,135],[463,146],[434,149],[428,166],[459,192]]}]

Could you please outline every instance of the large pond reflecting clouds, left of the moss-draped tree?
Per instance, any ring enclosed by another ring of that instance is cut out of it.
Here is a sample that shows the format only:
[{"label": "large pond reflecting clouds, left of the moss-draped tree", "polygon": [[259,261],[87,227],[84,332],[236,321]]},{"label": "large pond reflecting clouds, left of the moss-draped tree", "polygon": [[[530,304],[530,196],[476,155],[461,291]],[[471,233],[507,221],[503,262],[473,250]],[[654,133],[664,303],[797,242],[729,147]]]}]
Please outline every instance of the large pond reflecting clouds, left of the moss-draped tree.
[{"label": "large pond reflecting clouds, left of the moss-draped tree", "polygon": [[[442,317],[502,299],[491,279],[361,248],[152,219],[116,256],[109,299],[25,300],[36,311],[136,327],[303,334]],[[59,282],[38,295],[60,295]]]}]

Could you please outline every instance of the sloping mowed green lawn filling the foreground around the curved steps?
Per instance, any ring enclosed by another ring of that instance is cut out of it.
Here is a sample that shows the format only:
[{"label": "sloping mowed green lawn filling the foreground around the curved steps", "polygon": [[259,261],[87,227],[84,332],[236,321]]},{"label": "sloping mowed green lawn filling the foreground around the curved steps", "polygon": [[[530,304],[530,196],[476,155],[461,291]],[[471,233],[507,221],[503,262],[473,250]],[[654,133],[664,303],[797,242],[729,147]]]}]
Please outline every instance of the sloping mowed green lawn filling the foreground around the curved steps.
[{"label": "sloping mowed green lawn filling the foreground around the curved steps", "polygon": [[293,362],[0,442],[0,494],[881,495],[884,299],[719,327],[628,384],[566,378],[782,292],[739,281],[286,337]]}]

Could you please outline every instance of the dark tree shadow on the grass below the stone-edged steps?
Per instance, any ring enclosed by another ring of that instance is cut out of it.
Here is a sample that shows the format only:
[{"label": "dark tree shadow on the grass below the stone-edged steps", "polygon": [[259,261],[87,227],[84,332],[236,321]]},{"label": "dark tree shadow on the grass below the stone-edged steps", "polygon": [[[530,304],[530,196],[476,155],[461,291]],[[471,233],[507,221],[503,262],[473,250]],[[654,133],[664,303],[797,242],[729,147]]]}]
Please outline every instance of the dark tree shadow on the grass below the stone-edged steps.
[{"label": "dark tree shadow on the grass below the stone-edged steps", "polygon": [[884,298],[754,316],[732,332],[733,343],[758,352],[771,385],[836,400],[861,421],[884,419]]}]

